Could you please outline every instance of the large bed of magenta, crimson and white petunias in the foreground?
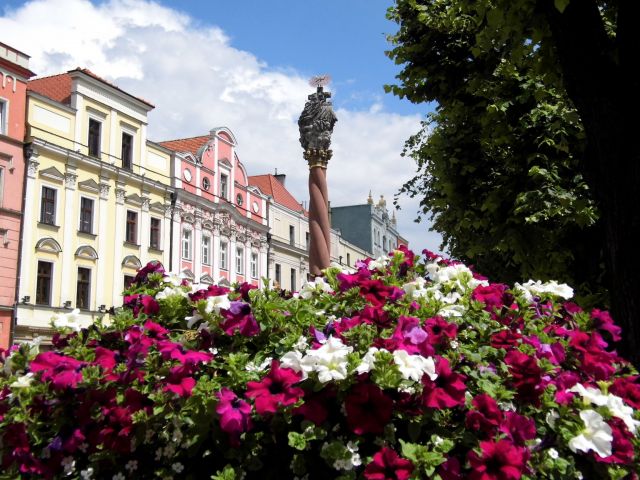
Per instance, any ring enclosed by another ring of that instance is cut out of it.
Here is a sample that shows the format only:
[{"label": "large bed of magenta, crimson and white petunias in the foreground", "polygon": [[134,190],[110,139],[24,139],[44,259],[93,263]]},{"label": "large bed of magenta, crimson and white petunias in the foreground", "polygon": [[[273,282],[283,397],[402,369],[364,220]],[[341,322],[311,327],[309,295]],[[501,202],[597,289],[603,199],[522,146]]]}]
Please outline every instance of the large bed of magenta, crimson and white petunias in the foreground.
[{"label": "large bed of magenta, crimson and white petunias in the foreground", "polygon": [[111,324],[0,352],[0,478],[638,478],[619,328],[406,249],[294,295],[142,269]]}]

